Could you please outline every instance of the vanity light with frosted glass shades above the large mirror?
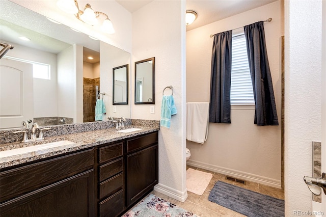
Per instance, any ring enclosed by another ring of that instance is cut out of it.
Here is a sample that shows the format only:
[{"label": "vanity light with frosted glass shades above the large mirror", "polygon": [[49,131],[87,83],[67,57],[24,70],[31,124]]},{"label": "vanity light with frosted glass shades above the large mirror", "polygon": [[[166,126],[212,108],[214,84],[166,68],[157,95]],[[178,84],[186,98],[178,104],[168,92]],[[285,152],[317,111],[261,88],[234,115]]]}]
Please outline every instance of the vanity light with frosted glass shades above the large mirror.
[{"label": "vanity light with frosted glass shades above the large mirror", "polygon": [[[108,16],[103,12],[93,11],[90,4],[85,5],[84,11],[79,9],[77,0],[59,0],[57,6],[66,13],[74,14],[77,19],[82,20],[87,24],[93,26],[101,25],[101,31],[104,33],[115,33],[113,24]],[[104,20],[101,19],[100,15],[104,16]]]}]

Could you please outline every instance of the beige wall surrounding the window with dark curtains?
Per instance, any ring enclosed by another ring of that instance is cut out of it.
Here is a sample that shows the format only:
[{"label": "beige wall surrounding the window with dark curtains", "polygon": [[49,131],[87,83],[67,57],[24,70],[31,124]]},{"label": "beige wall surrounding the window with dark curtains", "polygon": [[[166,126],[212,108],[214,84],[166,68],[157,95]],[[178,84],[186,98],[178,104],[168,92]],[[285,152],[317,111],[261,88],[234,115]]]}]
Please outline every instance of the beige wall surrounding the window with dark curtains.
[{"label": "beige wall surrounding the window with dark curtains", "polygon": [[[208,102],[213,39],[210,34],[264,23],[268,60],[281,123],[281,36],[283,2],[277,1],[186,32],[186,101]],[[210,123],[204,144],[187,141],[189,165],[281,187],[281,126],[254,124],[254,106],[232,106],[231,124]]]}]

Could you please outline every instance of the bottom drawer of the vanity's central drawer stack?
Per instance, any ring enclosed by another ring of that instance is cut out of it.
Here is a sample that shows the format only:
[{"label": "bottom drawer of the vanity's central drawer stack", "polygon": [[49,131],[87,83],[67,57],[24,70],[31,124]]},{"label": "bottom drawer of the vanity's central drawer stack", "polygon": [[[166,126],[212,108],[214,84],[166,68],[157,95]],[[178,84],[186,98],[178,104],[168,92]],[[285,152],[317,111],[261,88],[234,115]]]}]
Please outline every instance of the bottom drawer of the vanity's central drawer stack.
[{"label": "bottom drawer of the vanity's central drawer stack", "polygon": [[124,189],[121,189],[116,194],[107,198],[106,200],[100,202],[99,211],[100,216],[107,217],[116,217],[118,216],[124,209],[123,201],[124,201]]}]

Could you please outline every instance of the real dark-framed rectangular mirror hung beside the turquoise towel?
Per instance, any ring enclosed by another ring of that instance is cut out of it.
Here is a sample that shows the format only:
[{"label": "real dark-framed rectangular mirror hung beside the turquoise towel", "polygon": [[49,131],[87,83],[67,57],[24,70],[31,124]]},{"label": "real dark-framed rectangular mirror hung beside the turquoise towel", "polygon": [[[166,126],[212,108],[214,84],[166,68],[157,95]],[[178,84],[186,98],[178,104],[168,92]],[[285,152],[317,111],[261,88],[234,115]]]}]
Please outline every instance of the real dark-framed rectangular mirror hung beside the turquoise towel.
[{"label": "real dark-framed rectangular mirror hung beside the turquoise towel", "polygon": [[155,104],[155,57],[134,63],[135,104]]}]

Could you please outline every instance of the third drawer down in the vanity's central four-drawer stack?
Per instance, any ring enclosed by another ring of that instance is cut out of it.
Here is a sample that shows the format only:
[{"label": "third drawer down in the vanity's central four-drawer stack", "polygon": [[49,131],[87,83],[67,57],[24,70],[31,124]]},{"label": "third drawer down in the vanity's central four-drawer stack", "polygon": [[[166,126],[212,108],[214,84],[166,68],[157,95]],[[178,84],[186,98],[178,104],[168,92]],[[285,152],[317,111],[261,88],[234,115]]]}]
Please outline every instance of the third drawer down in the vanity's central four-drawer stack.
[{"label": "third drawer down in the vanity's central four-drawer stack", "polygon": [[100,183],[99,191],[100,191],[100,199],[104,198],[107,195],[112,194],[117,189],[123,188],[123,173],[112,177],[106,181]]}]

